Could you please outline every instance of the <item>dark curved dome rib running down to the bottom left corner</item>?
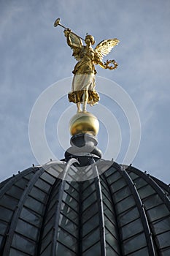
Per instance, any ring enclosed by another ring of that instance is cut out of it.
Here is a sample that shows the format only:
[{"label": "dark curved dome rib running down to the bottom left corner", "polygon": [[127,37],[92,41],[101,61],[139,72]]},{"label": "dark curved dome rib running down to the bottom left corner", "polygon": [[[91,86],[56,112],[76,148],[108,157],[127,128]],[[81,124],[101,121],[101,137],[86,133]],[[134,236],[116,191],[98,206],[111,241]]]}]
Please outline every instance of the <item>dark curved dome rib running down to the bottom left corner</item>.
[{"label": "dark curved dome rib running down to the bottom left corner", "polygon": [[[27,170],[26,173],[27,174],[29,173],[28,170]],[[34,184],[38,180],[39,176],[42,175],[42,173],[44,173],[44,170],[42,168],[40,168],[39,170],[36,171],[35,175],[28,182],[28,185],[27,185],[26,189],[24,190],[22,196],[20,197],[18,206],[16,206],[15,213],[14,213],[14,215],[12,217],[12,222],[11,222],[10,227],[9,227],[7,240],[6,240],[6,243],[4,245],[4,255],[9,255],[10,246],[12,244],[12,240],[13,240],[13,236],[14,236],[14,233],[15,233],[15,229],[16,229],[16,226],[18,224],[18,218],[20,217],[20,212],[23,209],[23,205],[24,205],[24,203],[25,203],[25,201],[26,201],[26,199],[28,197],[28,194],[31,192],[31,189],[34,187]],[[19,177],[19,178],[21,178],[21,177]]]}]

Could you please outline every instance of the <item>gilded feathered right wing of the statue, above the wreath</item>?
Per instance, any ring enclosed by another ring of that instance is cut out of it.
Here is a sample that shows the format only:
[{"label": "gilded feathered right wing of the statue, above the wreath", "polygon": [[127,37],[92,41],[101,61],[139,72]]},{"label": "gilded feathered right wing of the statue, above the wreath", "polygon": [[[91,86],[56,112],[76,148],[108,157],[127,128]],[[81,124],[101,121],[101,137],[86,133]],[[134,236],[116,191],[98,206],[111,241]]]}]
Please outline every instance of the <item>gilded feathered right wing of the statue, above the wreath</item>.
[{"label": "gilded feathered right wing of the statue, above the wreath", "polygon": [[106,56],[119,42],[120,41],[117,38],[101,41],[94,49],[95,52],[98,54],[100,61],[102,61],[104,56]]}]

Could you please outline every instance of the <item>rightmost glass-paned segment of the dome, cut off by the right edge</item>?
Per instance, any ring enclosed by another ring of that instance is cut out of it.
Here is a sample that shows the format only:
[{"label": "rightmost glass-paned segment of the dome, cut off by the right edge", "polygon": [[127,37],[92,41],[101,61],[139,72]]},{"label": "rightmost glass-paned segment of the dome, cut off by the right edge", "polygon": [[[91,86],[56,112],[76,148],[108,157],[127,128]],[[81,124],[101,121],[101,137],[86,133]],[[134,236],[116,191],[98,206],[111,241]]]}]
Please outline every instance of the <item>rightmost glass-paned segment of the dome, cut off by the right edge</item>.
[{"label": "rightmost glass-paned segment of the dome, cut off by the right edge", "polygon": [[144,204],[144,209],[154,238],[154,245],[158,255],[169,255],[170,241],[170,215],[169,197],[161,187],[166,189],[166,185],[160,181],[161,187],[146,172],[129,166],[127,169],[129,176],[136,183],[136,188]]}]

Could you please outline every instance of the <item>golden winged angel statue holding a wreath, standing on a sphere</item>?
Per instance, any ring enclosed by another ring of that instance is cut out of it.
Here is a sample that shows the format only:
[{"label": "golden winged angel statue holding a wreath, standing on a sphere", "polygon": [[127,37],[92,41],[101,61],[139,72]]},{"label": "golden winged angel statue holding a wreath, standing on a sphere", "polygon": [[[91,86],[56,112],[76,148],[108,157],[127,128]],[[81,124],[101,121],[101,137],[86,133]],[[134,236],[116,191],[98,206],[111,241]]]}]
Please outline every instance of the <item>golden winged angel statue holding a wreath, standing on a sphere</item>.
[{"label": "golden winged angel statue holding a wreath, standing on a sphere", "polygon": [[[77,112],[85,112],[87,104],[94,105],[99,100],[99,95],[95,90],[95,65],[99,64],[104,69],[116,69],[117,63],[115,60],[102,62],[119,40],[107,39],[101,41],[95,49],[92,48],[95,40],[91,35],[86,35],[85,45],[82,44],[82,39],[72,33],[70,29],[65,29],[64,34],[68,45],[72,48],[74,58],[78,61],[74,67],[72,80],[72,91],[69,92],[69,102],[77,104]],[[113,64],[109,65],[110,63]],[[81,110],[82,104],[82,110]]]}]

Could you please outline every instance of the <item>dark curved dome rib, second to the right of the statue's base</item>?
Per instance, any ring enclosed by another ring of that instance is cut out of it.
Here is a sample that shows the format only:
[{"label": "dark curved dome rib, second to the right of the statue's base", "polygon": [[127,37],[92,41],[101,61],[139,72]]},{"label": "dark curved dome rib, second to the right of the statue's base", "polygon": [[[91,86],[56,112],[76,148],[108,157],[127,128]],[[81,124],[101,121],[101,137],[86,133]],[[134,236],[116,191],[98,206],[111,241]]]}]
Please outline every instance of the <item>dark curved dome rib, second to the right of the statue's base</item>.
[{"label": "dark curved dome rib, second to the right of the statue's base", "polygon": [[144,227],[144,233],[147,240],[147,246],[150,252],[150,256],[155,256],[155,249],[152,241],[152,233],[150,231],[150,226],[147,221],[146,213],[144,211],[144,205],[136,189],[135,183],[131,180],[131,177],[128,175],[128,173],[125,170],[123,169],[120,170],[120,174],[123,176],[123,178],[125,178],[125,181],[127,182],[129,188],[131,189],[131,193],[134,196],[136,206],[138,207],[139,214],[142,219],[142,225]]}]

